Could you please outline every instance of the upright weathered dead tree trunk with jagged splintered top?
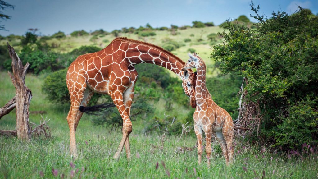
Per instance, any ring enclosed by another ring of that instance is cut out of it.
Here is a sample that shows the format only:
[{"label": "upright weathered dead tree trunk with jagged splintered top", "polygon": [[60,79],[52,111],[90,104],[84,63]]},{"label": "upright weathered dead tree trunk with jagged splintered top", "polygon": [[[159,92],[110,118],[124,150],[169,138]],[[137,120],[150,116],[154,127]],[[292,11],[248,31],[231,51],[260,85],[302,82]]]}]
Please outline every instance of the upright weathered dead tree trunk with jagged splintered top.
[{"label": "upright weathered dead tree trunk with jagged splintered top", "polygon": [[12,72],[9,73],[12,83],[16,88],[16,121],[18,139],[30,141],[31,130],[29,126],[29,105],[32,98],[31,90],[25,86],[25,74],[29,63],[25,66],[14,51],[13,47],[8,44],[8,50],[12,59]]}]

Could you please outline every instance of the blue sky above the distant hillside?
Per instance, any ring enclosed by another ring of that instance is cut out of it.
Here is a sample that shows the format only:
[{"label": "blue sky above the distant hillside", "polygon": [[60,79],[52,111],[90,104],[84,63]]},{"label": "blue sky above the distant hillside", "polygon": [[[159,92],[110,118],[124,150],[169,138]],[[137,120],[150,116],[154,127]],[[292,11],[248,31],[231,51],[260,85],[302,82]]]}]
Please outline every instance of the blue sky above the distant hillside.
[{"label": "blue sky above the distant hillside", "polygon": [[[62,31],[69,34],[84,29],[112,31],[122,27],[153,27],[191,25],[192,21],[214,22],[219,25],[229,18],[253,14],[250,0],[6,0],[15,9],[4,14],[11,19],[1,24],[9,30],[0,35],[23,35],[29,28],[38,28],[42,35]],[[260,13],[267,17],[272,11],[297,10],[297,5],[316,14],[318,0],[254,0]],[[254,20],[255,21],[255,20]]]}]

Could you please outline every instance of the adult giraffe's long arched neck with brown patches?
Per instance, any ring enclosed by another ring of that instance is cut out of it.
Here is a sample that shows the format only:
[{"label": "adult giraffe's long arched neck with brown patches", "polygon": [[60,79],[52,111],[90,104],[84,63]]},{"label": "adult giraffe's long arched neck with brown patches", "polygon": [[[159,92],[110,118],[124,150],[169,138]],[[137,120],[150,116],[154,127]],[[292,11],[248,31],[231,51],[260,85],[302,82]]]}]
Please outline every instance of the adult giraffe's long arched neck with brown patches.
[{"label": "adult giraffe's long arched neck with brown patches", "polygon": [[148,47],[142,44],[129,43],[125,57],[127,62],[130,63],[130,66],[140,63],[156,64],[171,70],[181,79],[183,79],[181,70],[183,64],[180,62],[180,60],[177,60],[174,55],[166,53],[161,49],[156,49],[156,47]]}]

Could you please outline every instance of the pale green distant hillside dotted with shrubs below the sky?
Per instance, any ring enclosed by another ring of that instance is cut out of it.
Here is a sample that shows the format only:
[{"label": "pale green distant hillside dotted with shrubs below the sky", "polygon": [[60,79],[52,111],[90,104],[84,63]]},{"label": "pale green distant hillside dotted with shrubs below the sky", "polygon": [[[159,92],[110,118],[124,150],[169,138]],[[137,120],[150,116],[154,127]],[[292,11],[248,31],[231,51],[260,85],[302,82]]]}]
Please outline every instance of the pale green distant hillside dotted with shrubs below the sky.
[{"label": "pale green distant hillside dotted with shrubs below the sky", "polygon": [[[242,18],[240,16],[238,19],[249,22],[246,17]],[[115,37],[124,36],[163,47],[184,61],[188,59],[187,53],[197,52],[205,60],[208,68],[214,68],[214,60],[210,59],[211,46],[223,42],[223,39],[217,33],[223,32],[224,29],[220,26],[214,26],[213,22],[193,21],[192,24],[192,27],[171,25],[169,28],[153,28],[147,24],[139,28],[122,28],[112,32],[100,29],[93,32],[79,30],[71,34],[64,34],[64,32],[59,31],[51,36],[38,36],[38,29],[29,29],[24,36],[0,36],[0,46],[3,47],[8,41],[19,52],[25,46],[32,48],[32,46],[37,47],[38,45],[36,44],[41,44],[42,47],[52,52],[63,54],[82,46],[95,46],[102,49],[109,45]],[[3,49],[5,48],[3,47]],[[208,70],[209,75],[216,75],[216,72],[216,70]]]}]

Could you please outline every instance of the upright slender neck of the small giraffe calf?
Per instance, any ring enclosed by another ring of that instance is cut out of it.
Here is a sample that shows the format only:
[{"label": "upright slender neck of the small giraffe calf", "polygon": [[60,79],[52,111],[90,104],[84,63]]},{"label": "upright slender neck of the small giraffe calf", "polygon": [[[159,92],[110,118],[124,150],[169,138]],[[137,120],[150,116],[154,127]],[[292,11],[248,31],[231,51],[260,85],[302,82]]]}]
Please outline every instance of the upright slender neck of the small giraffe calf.
[{"label": "upright slender neck of the small giraffe calf", "polygon": [[197,68],[197,82],[196,82],[196,99],[197,105],[202,105],[206,102],[205,99],[209,97],[209,91],[206,88],[205,76],[206,76],[206,66],[205,63],[199,59]]}]

